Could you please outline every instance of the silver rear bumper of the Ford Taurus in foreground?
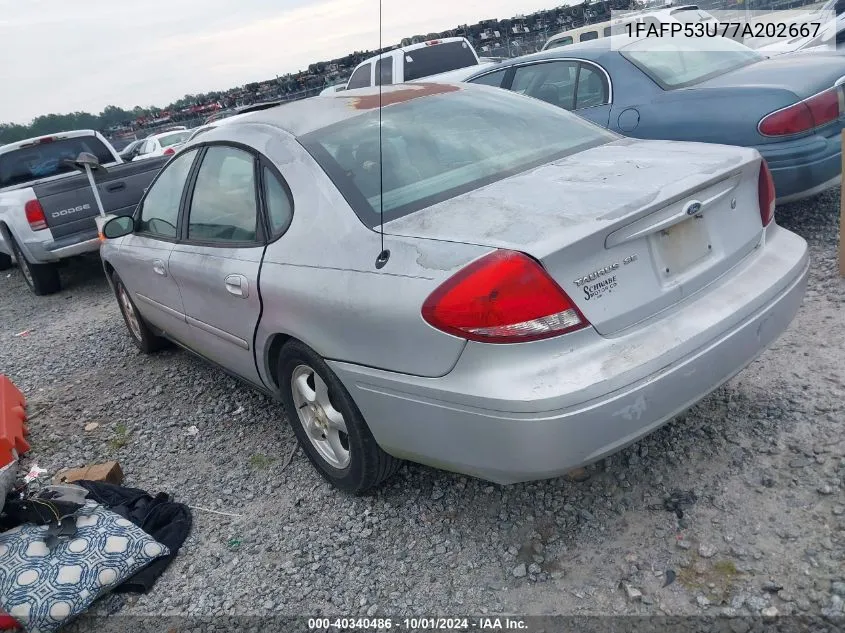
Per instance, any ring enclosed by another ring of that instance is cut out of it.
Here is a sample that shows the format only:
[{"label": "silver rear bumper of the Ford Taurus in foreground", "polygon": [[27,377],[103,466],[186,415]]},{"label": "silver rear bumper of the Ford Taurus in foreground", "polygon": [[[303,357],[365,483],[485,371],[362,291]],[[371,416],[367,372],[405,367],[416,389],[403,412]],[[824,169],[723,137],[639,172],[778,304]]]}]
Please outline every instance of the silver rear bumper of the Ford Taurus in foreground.
[{"label": "silver rear bumper of the Ford Taurus in foreground", "polygon": [[804,296],[807,245],[774,225],[766,240],[704,291],[613,338],[470,343],[442,378],[330,365],[397,457],[498,483],[558,476],[669,421],[786,329]]}]

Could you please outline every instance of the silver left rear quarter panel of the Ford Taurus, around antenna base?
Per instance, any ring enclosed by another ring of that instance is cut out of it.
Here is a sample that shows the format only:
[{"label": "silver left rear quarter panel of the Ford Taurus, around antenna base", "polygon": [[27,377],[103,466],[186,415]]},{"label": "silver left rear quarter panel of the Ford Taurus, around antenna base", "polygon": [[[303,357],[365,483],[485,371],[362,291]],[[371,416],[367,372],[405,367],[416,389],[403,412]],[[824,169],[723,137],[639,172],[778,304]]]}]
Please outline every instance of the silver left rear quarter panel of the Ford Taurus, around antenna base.
[{"label": "silver left rear quarter panel of the Ford Taurus, around antenna base", "polygon": [[489,249],[386,236],[390,260],[377,270],[379,234],[361,223],[310,155],[279,130],[249,127],[258,129],[233,140],[273,160],[294,198],[291,226],[268,246],[261,269],[256,350],[265,382],[272,384],[267,352],[276,334],[327,359],[418,376],[448,373],[465,341],[425,323],[422,304]]}]

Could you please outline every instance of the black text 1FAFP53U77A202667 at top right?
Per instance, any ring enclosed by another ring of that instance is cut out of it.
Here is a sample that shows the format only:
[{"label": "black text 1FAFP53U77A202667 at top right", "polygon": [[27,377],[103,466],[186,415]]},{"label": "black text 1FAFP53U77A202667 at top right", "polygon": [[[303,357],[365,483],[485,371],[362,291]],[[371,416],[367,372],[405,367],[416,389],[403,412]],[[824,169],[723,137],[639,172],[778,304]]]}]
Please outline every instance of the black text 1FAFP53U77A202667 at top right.
[{"label": "black text 1FAFP53U77A202667 at top right", "polygon": [[726,37],[737,38],[793,38],[816,37],[821,22],[789,24],[785,22],[697,22],[695,24],[629,22],[625,25],[628,37]]}]

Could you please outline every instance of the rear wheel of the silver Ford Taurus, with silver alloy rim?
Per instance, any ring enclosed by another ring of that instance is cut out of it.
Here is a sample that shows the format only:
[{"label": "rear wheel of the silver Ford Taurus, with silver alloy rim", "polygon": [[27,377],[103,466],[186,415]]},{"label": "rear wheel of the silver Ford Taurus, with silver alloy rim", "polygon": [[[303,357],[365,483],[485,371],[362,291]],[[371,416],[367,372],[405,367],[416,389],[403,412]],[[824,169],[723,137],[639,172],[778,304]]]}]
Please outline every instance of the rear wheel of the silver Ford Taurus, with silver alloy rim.
[{"label": "rear wheel of the silver Ford Taurus, with silver alloy rim", "polygon": [[362,493],[393,475],[401,460],[376,443],[364,417],[325,361],[299,341],[279,354],[279,385],[300,446],[332,485]]}]

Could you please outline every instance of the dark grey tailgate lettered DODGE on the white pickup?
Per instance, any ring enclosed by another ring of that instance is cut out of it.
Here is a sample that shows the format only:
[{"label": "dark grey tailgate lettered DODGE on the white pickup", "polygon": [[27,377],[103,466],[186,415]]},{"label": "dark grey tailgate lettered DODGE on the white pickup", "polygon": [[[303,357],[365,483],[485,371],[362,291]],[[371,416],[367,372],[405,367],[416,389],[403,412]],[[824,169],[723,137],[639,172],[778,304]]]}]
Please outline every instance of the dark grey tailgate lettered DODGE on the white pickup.
[{"label": "dark grey tailgate lettered DODGE on the white pickup", "polygon": [[[150,158],[114,165],[108,168],[107,173],[95,172],[106,213],[131,215],[144,191],[168,160],[167,156]],[[54,238],[96,231],[94,218],[99,211],[85,174],[37,184],[33,186],[33,191],[44,209],[47,226]]]}]

